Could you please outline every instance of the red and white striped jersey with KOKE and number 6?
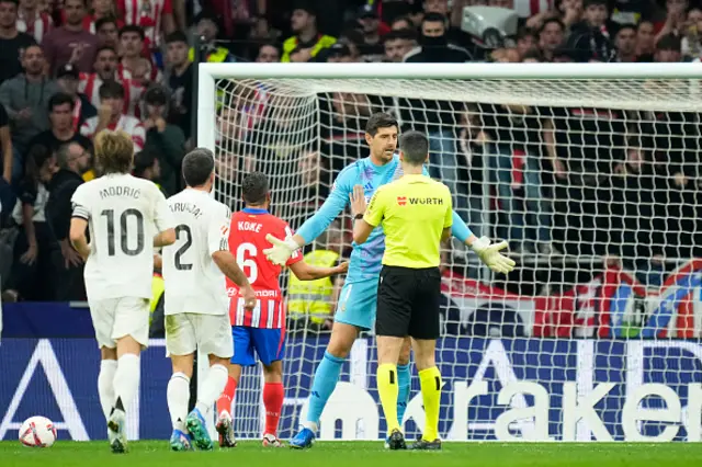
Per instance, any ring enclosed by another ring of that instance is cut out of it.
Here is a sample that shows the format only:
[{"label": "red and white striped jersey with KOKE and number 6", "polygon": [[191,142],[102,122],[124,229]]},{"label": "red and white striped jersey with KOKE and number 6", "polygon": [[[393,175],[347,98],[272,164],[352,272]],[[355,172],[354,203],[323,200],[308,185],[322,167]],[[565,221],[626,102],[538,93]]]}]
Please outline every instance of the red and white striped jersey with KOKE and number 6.
[{"label": "red and white striped jersey with KOKE and number 6", "polygon": [[[285,308],[279,277],[283,269],[265,259],[263,250],[271,244],[265,239],[270,234],[278,238],[293,235],[286,221],[271,215],[265,209],[246,208],[231,216],[229,228],[229,251],[247,275],[256,296],[253,310],[244,308],[239,296],[239,287],[227,278],[229,295],[229,318],[231,326],[249,326],[252,328],[281,329],[285,327]],[[295,251],[286,265],[303,260],[299,251]]]}]

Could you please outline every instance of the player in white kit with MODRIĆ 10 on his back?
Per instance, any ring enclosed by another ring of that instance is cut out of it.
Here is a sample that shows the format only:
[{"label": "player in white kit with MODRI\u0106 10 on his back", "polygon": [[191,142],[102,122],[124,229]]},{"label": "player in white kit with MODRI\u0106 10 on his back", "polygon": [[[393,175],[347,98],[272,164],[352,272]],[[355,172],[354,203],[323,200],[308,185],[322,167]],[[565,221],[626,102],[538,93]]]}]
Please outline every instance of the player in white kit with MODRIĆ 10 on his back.
[{"label": "player in white kit with MODRI\u0106 10 on his back", "polygon": [[125,412],[138,389],[139,354],[149,338],[154,247],[173,243],[176,231],[159,189],[129,174],[134,159],[129,135],[105,129],[95,137],[94,149],[104,175],[73,193],[70,241],[86,260],[88,305],[102,357],[98,392],[107,437],[114,453],[124,453]]}]

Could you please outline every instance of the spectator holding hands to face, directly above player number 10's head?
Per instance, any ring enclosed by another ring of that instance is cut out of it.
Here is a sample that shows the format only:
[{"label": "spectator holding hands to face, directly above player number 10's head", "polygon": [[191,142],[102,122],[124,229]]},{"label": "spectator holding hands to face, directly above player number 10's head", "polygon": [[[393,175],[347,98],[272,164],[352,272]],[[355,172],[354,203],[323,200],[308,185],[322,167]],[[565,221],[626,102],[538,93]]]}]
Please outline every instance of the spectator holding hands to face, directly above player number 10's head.
[{"label": "spectator holding hands to face, directly above player number 10's head", "polygon": [[105,128],[121,129],[132,136],[134,150],[140,151],[146,138],[144,126],[137,118],[124,115],[124,87],[114,80],[103,82],[100,87],[98,116],[88,118],[80,128],[80,134],[92,139]]}]

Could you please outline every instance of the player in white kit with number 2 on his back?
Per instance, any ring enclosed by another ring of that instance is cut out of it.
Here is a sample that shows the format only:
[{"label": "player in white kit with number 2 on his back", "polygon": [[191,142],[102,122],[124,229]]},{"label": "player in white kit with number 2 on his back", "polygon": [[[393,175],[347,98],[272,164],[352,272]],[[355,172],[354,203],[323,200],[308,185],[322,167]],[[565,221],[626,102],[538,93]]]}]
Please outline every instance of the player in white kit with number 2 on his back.
[{"label": "player in white kit with number 2 on his back", "polygon": [[[167,390],[173,423],[170,443],[173,451],[190,451],[192,437],[195,446],[208,451],[213,442],[205,417],[227,384],[234,349],[225,275],[240,287],[246,308],[256,306],[256,294],[229,252],[231,212],[210,196],[215,178],[212,151],[193,150],[182,167],[188,189],[168,200],[177,241],[162,253],[166,348],[173,365]],[[195,409],[188,413],[195,349],[207,354],[210,371]]]}]

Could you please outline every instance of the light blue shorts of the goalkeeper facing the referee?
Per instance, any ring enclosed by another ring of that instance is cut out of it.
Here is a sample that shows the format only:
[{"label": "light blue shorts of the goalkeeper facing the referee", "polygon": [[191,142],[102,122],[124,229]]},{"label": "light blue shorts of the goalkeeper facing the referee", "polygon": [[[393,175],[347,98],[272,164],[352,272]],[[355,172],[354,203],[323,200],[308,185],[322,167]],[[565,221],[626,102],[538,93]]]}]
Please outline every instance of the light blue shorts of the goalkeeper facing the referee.
[{"label": "light blue shorts of the goalkeeper facing the referee", "polygon": [[377,306],[377,280],[343,284],[333,320],[362,329],[373,329]]}]

